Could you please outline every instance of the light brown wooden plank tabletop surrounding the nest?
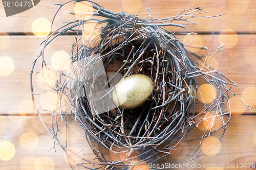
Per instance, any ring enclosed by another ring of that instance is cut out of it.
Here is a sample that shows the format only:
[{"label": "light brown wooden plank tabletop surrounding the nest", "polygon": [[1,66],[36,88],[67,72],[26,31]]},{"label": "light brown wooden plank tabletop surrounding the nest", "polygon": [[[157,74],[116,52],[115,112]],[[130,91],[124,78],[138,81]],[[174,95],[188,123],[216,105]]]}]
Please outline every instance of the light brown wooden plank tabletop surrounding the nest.
[{"label": "light brown wooden plank tabletop surrounding the nest", "polygon": [[[6,17],[3,4],[0,3],[0,30],[2,30],[0,31],[0,57],[2,58],[0,59],[1,62],[5,60],[7,63],[5,71],[0,68],[0,88],[2,89],[0,94],[0,114],[2,114],[0,116],[1,169],[70,169],[67,157],[60,147],[56,147],[56,153],[53,149],[48,152],[53,146],[53,138],[42,126],[38,115],[33,112],[29,75],[32,62],[41,49],[39,44],[44,39],[33,34],[33,22],[37,18],[43,17],[46,26],[47,20],[52,21],[58,8],[54,4],[64,2],[63,0],[43,0],[32,9],[10,17]],[[185,25],[186,29],[172,27],[168,29],[179,33],[198,33],[197,36],[192,37],[194,39],[191,41],[201,41],[202,45],[209,49],[213,42],[213,51],[224,43],[223,51],[212,57],[214,58],[212,61],[215,62],[215,67],[218,66],[218,71],[238,83],[238,87],[233,88],[232,91],[249,104],[252,109],[252,112],[250,112],[243,103],[233,100],[231,109],[233,108],[234,112],[241,115],[232,115],[221,144],[216,146],[220,151],[211,156],[204,155],[198,158],[195,163],[201,166],[204,164],[216,164],[217,167],[222,166],[222,164],[225,165],[224,168],[200,168],[208,170],[252,169],[251,167],[248,168],[248,165],[249,163],[256,163],[256,1],[180,0],[159,2],[152,0],[111,0],[107,2],[96,0],[95,2],[114,12],[139,13],[140,17],[148,16],[145,8],[151,8],[151,14],[154,18],[174,16],[179,11],[182,12],[185,9],[198,6],[205,6],[203,11],[209,11],[209,13],[204,14],[205,16],[226,13],[221,17],[196,17],[191,19],[191,21],[198,22],[201,25]],[[74,20],[74,16],[69,15],[72,8],[71,6],[60,11],[55,18],[53,29],[60,27],[64,21],[69,21],[71,18]],[[214,32],[214,38],[212,32]],[[184,37],[184,35],[181,35],[179,39],[182,41]],[[50,62],[52,54],[56,51],[68,52],[72,42],[74,42],[74,35],[60,36],[58,41],[53,42],[47,52],[49,56],[47,60]],[[209,50],[199,51],[198,53],[208,54]],[[15,68],[13,68],[13,65]],[[3,64],[1,67],[4,67]],[[35,85],[34,90],[36,93],[44,95],[44,88],[41,87],[43,86],[39,82]],[[44,102],[40,103],[40,98],[36,102],[41,110],[44,109],[41,105],[51,105]],[[47,125],[49,125],[50,116],[45,115],[44,118],[48,123]],[[71,120],[69,121],[74,130],[84,134],[84,131],[77,124],[72,123]],[[63,135],[60,135],[62,142],[66,140],[66,133],[68,146],[76,152],[83,149],[79,154],[86,159],[93,160],[95,156],[84,137],[73,133],[70,128],[66,129],[65,124],[61,125],[60,130],[63,131]],[[1,153],[4,146],[10,149],[9,156]],[[228,168],[228,163],[230,163],[230,166],[233,163],[234,167]],[[243,163],[242,168],[240,168],[240,163]],[[247,164],[247,167],[244,167],[245,164]],[[76,168],[75,165],[73,167]]]}]

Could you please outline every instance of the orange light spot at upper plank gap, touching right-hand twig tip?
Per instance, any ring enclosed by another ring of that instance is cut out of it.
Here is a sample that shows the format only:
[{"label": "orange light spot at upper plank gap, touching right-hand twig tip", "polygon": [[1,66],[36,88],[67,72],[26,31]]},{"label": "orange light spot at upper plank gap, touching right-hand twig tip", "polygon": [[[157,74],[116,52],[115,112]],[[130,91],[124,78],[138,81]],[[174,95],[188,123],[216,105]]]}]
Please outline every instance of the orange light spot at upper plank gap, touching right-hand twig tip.
[{"label": "orange light spot at upper plank gap, touching right-hand twig tip", "polygon": [[[187,47],[187,49],[189,49],[189,51],[191,52],[198,52],[200,50],[200,47],[203,44],[202,38],[197,34],[191,34],[190,36],[185,35],[182,42],[185,44],[184,45],[185,47],[193,42]],[[193,47],[193,46],[197,46],[197,47]]]}]

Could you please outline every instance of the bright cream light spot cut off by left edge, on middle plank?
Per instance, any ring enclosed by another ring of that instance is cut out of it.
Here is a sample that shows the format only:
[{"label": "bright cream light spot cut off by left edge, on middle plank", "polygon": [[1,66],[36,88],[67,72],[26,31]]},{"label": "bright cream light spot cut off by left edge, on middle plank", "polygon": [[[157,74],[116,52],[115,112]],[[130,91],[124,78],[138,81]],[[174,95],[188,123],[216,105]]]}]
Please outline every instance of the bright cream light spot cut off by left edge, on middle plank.
[{"label": "bright cream light spot cut off by left edge, on middle plank", "polygon": [[0,57],[0,76],[10,76],[15,69],[14,60],[9,56]]}]

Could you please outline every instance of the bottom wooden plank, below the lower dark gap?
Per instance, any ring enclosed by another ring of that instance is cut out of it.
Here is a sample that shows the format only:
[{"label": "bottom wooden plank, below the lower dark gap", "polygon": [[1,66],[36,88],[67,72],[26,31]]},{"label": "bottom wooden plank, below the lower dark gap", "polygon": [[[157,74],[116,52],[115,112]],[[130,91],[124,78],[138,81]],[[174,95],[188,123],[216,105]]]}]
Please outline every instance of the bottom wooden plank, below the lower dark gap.
[{"label": "bottom wooden plank, below the lower dark gap", "polygon": [[[201,166],[204,164],[216,164],[217,167],[220,163],[224,163],[225,167],[227,167],[229,162],[239,164],[254,161],[251,159],[253,158],[251,155],[255,158],[255,120],[256,116],[251,115],[232,116],[227,131],[221,140],[221,148],[218,154],[216,153],[212,156],[204,155],[196,159],[195,163]],[[53,150],[48,152],[53,146],[53,139],[42,127],[38,116],[0,116],[0,122],[0,142],[7,140],[13,143],[16,151],[11,160],[0,160],[2,169],[35,169],[35,166],[38,169],[40,167],[38,162],[43,160],[49,160],[48,168],[44,167],[45,169],[53,169],[53,167],[55,169],[69,169],[68,163],[64,159],[63,151],[58,145],[56,146],[56,153]],[[71,119],[68,119],[68,123],[71,124],[71,127],[76,132],[84,134],[84,131]],[[49,124],[46,125],[50,126]],[[63,134],[66,134],[64,125],[63,122],[59,122],[60,130]],[[190,134],[197,136],[202,133],[203,131],[196,128]],[[65,144],[65,135],[62,136],[63,134],[59,133],[58,138],[62,144]],[[86,139],[77,135],[70,128],[67,129],[67,141],[68,146],[75,145],[77,148],[83,149],[82,155],[84,158],[92,160],[95,157]],[[195,141],[195,145],[198,145],[198,142],[198,140]],[[111,159],[108,153],[105,156]],[[184,159],[186,158],[184,157]],[[75,166],[73,165],[73,167]]]}]

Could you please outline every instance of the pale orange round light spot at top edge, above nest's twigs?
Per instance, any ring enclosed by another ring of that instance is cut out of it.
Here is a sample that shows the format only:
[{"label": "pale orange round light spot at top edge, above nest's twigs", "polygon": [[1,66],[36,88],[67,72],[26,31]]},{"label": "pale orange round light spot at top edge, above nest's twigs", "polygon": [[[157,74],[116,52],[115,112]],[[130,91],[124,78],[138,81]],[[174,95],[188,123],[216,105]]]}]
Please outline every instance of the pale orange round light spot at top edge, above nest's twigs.
[{"label": "pale orange round light spot at top edge, above nest's twigs", "polygon": [[79,2],[75,5],[75,16],[80,20],[87,20],[93,16],[93,6],[88,2]]}]

